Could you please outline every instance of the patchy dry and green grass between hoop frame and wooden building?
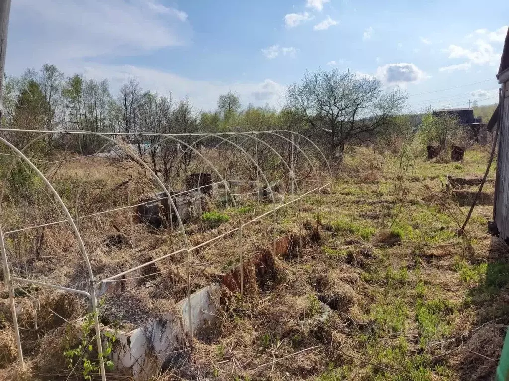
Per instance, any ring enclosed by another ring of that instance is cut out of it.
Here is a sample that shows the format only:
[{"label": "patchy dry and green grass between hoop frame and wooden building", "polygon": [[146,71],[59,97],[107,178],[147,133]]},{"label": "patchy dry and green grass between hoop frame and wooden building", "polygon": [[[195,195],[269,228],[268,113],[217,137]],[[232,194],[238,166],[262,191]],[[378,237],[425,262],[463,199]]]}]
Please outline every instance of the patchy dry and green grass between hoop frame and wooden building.
[{"label": "patchy dry and green grass between hoop frame and wooden building", "polygon": [[[369,150],[347,157],[320,201],[320,238],[280,258],[270,289],[233,301],[181,375],[491,379],[509,323],[509,250],[487,234],[491,200],[458,237],[469,206],[445,192],[447,174],[481,176],[487,161],[481,150],[401,168]],[[308,229],[316,202],[303,207]]]}]

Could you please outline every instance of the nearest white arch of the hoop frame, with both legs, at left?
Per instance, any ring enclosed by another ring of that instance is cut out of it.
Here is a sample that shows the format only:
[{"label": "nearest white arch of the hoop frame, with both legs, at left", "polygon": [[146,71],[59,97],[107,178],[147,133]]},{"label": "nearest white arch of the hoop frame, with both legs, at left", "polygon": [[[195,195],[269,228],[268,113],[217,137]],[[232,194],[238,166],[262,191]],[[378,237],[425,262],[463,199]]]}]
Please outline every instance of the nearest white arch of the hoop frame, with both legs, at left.
[{"label": "nearest white arch of the hoop frame, with both legs, at left", "polygon": [[[100,369],[101,369],[101,376],[102,376],[102,379],[103,381],[106,381],[106,370],[104,368],[104,358],[103,358],[103,352],[102,352],[102,341],[101,341],[101,329],[99,327],[99,316],[98,316],[98,312],[97,312],[97,296],[96,296],[96,292],[95,292],[95,285],[93,284],[93,281],[94,281],[94,272],[92,270],[92,266],[90,264],[90,260],[89,260],[89,257],[88,257],[88,253],[87,253],[87,249],[85,248],[84,244],[83,244],[83,240],[81,239],[81,236],[79,234],[79,231],[78,231],[78,228],[76,227],[76,224],[74,224],[74,220],[72,219],[71,217],[71,214],[69,213],[69,210],[67,209],[67,207],[65,206],[64,202],[62,201],[62,199],[60,198],[58,192],[56,192],[55,188],[51,185],[51,183],[48,181],[48,179],[44,176],[44,174],[39,170],[39,168],[37,168],[37,166],[32,163],[30,161],[29,158],[27,158],[23,152],[21,152],[19,149],[17,149],[14,145],[12,145],[9,141],[7,141],[6,139],[4,139],[3,137],[0,136],[0,142],[3,142],[5,145],[7,145],[17,156],[19,156],[24,162],[26,162],[26,164],[28,164],[30,167],[32,167],[32,169],[37,173],[37,175],[42,179],[42,181],[46,184],[46,186],[50,189],[51,193],[53,194],[53,196],[55,197],[56,201],[58,202],[58,204],[61,206],[62,210],[64,211],[67,219],[69,220],[69,223],[71,224],[71,227],[72,227],[72,230],[74,231],[74,234],[76,235],[76,239],[78,241],[78,246],[79,246],[79,249],[81,251],[81,254],[83,256],[83,259],[85,261],[85,264],[87,266],[87,269],[89,271],[89,276],[90,276],[90,281],[91,281],[91,302],[92,302],[92,310],[93,310],[93,313],[94,313],[94,323],[95,323],[95,329],[96,329],[96,335],[97,335],[97,349],[98,349],[98,354],[99,354],[99,363],[100,363]],[[6,248],[5,248],[5,241],[4,241],[4,234],[2,232],[2,229],[0,227],[0,249],[2,249],[2,257],[3,257],[3,262],[4,262],[4,271],[6,271],[7,274],[9,274],[9,265],[8,265],[8,262],[7,262],[7,252],[6,252]],[[13,309],[13,318],[16,318],[16,326],[17,326],[17,317],[15,315],[15,310],[16,310],[16,307],[15,307],[15,304],[14,304],[14,295],[12,295],[12,282],[10,281],[10,274],[8,276],[8,279],[6,279],[8,281],[8,287],[9,287],[9,291],[10,291],[10,299],[11,299],[11,307]],[[23,362],[23,357],[22,357],[22,348],[21,348],[21,339],[19,337],[19,331],[16,332],[16,340],[17,340],[17,344],[18,344],[18,353],[21,354],[20,356],[20,362],[21,362],[21,366],[22,368],[24,368],[24,362]]]}]

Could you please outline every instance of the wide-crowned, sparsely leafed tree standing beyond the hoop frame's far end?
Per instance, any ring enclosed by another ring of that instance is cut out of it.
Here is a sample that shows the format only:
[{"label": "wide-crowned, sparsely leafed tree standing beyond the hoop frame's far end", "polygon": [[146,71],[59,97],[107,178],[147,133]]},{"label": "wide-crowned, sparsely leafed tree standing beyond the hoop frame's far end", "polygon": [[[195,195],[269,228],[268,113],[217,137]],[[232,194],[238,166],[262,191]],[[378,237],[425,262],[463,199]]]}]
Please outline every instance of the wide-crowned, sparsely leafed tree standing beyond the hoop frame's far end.
[{"label": "wide-crowned, sparsely leafed tree standing beyond the hoop frame's far end", "polygon": [[376,79],[337,69],[306,73],[300,84],[288,88],[287,96],[302,120],[327,134],[331,154],[337,148],[343,154],[352,138],[375,134],[406,100],[399,90],[384,91]]}]

